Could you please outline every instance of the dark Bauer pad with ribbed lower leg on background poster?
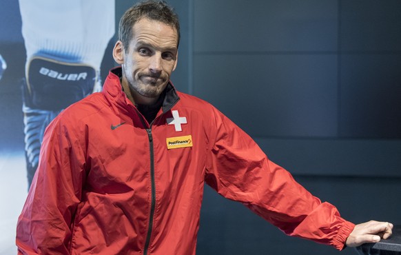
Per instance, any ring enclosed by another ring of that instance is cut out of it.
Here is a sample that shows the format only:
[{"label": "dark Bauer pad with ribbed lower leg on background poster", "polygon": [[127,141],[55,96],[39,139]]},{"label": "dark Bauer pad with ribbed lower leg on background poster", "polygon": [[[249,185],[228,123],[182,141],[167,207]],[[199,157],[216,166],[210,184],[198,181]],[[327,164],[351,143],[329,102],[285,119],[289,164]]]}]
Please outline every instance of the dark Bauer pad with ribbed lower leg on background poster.
[{"label": "dark Bauer pad with ribbed lower leg on background poster", "polygon": [[28,61],[23,84],[23,123],[28,185],[39,163],[43,133],[61,110],[83,99],[99,83],[89,65],[55,57],[34,56]]}]

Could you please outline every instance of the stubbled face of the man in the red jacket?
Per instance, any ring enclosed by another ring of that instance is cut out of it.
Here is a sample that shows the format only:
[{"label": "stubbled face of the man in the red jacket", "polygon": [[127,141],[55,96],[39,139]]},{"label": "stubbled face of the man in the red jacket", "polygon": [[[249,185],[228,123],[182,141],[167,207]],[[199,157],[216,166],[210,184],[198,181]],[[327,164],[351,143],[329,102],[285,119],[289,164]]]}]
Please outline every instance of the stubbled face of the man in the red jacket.
[{"label": "stubbled face of the man in the red jacket", "polygon": [[[141,19],[132,29],[130,45],[121,47],[123,83],[127,83],[136,103],[158,99],[176,68],[178,33],[171,26]],[[114,52],[115,53],[115,52]]]}]

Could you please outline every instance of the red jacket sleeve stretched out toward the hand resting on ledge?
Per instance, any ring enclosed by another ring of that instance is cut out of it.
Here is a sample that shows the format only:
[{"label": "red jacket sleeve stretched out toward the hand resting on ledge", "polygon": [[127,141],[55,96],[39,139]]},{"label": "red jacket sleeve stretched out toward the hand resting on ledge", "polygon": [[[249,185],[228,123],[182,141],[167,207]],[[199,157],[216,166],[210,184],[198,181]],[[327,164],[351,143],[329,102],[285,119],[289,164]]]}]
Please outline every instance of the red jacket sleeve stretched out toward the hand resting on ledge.
[{"label": "red jacket sleeve stretched out toward the hand resting on ledge", "polygon": [[321,203],[265,153],[243,130],[214,110],[206,182],[290,236],[345,247],[355,225],[333,205]]}]

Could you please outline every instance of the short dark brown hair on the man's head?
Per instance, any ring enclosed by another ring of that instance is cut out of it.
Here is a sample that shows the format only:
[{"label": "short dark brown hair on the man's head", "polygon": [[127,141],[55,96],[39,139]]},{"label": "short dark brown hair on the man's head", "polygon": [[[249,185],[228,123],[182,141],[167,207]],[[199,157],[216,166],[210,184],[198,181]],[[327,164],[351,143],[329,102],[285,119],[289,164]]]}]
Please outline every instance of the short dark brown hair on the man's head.
[{"label": "short dark brown hair on the man's head", "polygon": [[140,19],[147,18],[152,21],[160,21],[168,26],[175,28],[178,33],[178,44],[180,43],[180,23],[178,15],[172,7],[165,1],[147,0],[141,1],[129,8],[123,14],[119,23],[119,40],[123,43],[123,47],[128,47],[132,39],[132,28]]}]

